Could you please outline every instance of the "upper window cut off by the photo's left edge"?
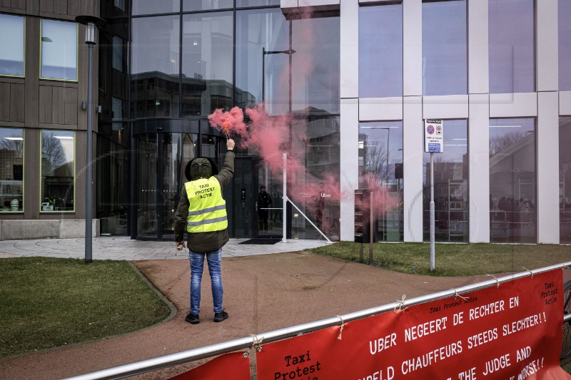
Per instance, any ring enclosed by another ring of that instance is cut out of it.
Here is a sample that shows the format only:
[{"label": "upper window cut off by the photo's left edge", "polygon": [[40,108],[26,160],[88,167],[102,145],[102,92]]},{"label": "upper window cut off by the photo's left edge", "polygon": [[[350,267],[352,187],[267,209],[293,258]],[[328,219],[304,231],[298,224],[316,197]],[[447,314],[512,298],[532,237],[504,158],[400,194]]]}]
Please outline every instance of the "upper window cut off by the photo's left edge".
[{"label": "upper window cut off by the photo's left edge", "polygon": [[0,14],[0,75],[24,76],[24,17]]}]

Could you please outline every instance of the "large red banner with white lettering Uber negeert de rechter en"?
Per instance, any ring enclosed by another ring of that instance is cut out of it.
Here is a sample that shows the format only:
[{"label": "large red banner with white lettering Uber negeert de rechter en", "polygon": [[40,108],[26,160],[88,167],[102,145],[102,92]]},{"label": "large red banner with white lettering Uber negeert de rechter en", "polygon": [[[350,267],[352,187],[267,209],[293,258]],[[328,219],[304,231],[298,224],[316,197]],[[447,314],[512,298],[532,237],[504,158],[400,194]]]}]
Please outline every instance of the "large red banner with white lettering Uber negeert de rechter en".
[{"label": "large red banner with white lettering Uber negeert de rechter en", "polygon": [[571,379],[562,271],[266,344],[258,380]]}]

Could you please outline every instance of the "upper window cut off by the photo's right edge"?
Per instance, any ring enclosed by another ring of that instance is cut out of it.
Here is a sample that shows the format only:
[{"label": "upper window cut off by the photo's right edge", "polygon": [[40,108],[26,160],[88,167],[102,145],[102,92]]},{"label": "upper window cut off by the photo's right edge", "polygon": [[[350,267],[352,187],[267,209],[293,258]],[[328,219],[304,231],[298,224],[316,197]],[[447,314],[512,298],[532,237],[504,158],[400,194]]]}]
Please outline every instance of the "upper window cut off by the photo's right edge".
[{"label": "upper window cut off by the photo's right edge", "polygon": [[559,0],[559,91],[571,91],[571,1]]}]

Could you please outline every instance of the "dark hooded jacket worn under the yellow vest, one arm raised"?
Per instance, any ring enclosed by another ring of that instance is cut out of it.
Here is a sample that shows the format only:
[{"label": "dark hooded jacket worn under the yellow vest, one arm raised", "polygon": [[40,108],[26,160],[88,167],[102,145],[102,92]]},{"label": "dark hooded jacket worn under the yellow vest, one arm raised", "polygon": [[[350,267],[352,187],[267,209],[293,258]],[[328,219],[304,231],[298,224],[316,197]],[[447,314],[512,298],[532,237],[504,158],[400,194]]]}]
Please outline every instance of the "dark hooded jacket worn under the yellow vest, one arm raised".
[{"label": "dark hooded jacket worn under the yellow vest, one arm raised", "polygon": [[[228,150],[224,165],[220,172],[216,168],[216,164],[210,158],[198,157],[189,161],[184,170],[187,180],[198,180],[200,178],[211,178],[213,176],[220,183],[221,189],[230,183],[234,175],[234,152]],[[178,200],[176,214],[174,216],[174,233],[175,241],[184,240],[184,232],[186,231],[186,217],[188,216],[188,195],[186,187],[181,190],[181,198]],[[193,232],[188,233],[187,247],[192,252],[204,253],[213,252],[228,242],[228,230],[214,232]]]}]

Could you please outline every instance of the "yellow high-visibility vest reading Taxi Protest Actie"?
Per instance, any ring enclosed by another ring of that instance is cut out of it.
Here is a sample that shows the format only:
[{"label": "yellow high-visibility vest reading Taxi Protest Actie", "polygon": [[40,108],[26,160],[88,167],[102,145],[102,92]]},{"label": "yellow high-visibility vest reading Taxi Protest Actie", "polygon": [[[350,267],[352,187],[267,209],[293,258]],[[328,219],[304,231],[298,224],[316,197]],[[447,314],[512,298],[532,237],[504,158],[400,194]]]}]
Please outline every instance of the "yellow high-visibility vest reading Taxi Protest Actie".
[{"label": "yellow high-visibility vest reading Taxi Protest Actie", "polygon": [[201,178],[184,184],[190,206],[186,217],[188,232],[214,232],[228,227],[226,201],[216,178]]}]

